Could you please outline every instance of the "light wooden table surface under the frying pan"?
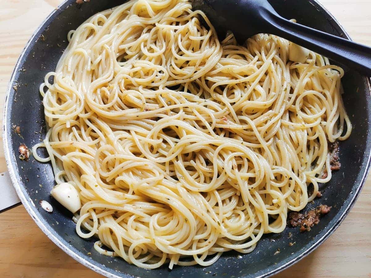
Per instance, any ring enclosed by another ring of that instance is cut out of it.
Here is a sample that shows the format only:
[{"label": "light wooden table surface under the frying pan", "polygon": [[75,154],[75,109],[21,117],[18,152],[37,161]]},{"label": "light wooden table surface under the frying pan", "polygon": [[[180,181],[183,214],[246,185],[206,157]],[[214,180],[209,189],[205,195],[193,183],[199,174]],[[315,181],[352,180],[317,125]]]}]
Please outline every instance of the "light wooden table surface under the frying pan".
[{"label": "light wooden table surface under the frying pan", "polygon": [[[298,0],[302,1],[302,0]],[[29,37],[62,0],[0,0],[0,113]],[[371,0],[322,0],[352,38],[371,46]],[[37,92],[35,92],[37,93]],[[0,141],[2,144],[2,140]],[[0,148],[0,172],[7,171]],[[316,251],[276,277],[371,277],[371,176],[341,226]],[[0,214],[0,277],[100,277],[61,251],[23,206]]]}]

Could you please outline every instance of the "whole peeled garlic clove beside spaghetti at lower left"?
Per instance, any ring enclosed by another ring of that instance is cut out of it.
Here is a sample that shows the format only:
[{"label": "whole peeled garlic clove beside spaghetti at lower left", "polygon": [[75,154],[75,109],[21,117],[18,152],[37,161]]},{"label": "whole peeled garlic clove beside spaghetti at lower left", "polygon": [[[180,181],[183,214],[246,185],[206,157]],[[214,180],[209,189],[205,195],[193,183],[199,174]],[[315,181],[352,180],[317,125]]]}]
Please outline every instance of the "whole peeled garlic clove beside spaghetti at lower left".
[{"label": "whole peeled garlic clove beside spaghetti at lower left", "polygon": [[72,213],[75,213],[81,208],[79,192],[68,182],[63,182],[54,186],[51,194],[54,199]]}]

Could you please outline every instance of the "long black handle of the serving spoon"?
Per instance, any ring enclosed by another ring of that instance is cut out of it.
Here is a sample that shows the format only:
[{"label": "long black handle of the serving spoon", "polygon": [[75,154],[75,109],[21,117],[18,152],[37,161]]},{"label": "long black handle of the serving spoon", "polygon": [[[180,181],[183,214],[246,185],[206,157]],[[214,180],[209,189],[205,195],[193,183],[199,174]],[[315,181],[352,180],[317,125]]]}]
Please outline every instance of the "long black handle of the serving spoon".
[{"label": "long black handle of the serving spoon", "polygon": [[294,23],[278,14],[268,12],[264,13],[263,17],[266,17],[270,33],[371,76],[370,47]]}]

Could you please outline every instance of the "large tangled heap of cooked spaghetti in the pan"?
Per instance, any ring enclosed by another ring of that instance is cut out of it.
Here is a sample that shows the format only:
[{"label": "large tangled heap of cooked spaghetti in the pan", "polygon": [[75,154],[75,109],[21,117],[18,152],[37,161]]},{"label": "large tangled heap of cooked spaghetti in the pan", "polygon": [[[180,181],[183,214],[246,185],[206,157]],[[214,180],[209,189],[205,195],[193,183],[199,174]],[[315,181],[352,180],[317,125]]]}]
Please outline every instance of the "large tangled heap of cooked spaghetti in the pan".
[{"label": "large tangled heap of cooked spaghetti in the pan", "polygon": [[352,130],[340,67],[269,34],[219,41],[191,1],[131,0],[68,39],[33,154],[77,233],[138,267],[252,252],[318,195]]}]

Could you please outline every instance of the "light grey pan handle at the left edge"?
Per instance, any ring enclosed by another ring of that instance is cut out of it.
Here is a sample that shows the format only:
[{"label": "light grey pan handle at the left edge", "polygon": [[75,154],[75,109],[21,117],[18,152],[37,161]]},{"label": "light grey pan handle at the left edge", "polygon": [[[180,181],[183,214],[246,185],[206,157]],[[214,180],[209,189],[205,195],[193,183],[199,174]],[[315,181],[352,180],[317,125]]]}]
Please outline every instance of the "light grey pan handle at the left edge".
[{"label": "light grey pan handle at the left edge", "polygon": [[0,213],[21,202],[8,172],[0,173]]}]

